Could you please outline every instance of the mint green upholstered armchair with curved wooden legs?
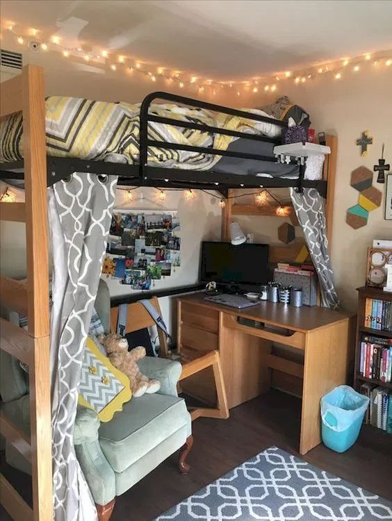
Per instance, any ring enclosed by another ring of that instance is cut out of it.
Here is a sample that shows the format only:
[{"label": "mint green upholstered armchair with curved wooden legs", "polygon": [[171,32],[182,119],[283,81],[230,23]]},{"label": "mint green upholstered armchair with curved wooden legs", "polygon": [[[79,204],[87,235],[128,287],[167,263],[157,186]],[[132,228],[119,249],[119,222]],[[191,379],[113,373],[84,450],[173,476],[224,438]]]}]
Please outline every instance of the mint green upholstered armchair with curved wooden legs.
[{"label": "mint green upholstered armchair with curved wooden legs", "polygon": [[[108,331],[110,297],[104,281],[99,284],[95,308]],[[0,392],[6,402],[1,411],[27,433],[26,374],[13,362],[1,351]],[[147,377],[161,382],[158,393],[131,399],[106,423],[100,423],[92,409],[79,406],[76,413],[74,447],[100,521],[110,518],[116,496],[124,494],[178,449],[180,472],[189,470],[186,456],[193,438],[190,414],[183,399],[177,396],[181,364],[149,357],[138,365]],[[17,372],[16,378],[14,372]],[[27,462],[11,446],[6,447],[6,459],[10,465],[28,472]]]}]

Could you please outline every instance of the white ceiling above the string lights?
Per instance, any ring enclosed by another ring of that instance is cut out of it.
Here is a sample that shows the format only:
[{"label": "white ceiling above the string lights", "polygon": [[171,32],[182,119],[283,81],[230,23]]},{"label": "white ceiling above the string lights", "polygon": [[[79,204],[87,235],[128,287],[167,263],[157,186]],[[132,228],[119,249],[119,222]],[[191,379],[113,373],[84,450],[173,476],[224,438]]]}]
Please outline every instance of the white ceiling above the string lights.
[{"label": "white ceiling above the string lights", "polygon": [[392,48],[391,0],[2,0],[1,18],[217,81]]}]

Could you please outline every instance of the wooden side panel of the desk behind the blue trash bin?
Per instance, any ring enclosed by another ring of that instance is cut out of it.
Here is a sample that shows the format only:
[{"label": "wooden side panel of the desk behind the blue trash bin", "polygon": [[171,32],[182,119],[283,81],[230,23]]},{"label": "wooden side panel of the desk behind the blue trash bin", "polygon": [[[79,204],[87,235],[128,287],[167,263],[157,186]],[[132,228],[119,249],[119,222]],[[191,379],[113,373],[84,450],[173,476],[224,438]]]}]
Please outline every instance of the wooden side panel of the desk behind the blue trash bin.
[{"label": "wooden side panel of the desk behind the blue trash bin", "polygon": [[350,352],[349,321],[307,334],[302,389],[300,454],[321,441],[320,399],[345,383]]}]

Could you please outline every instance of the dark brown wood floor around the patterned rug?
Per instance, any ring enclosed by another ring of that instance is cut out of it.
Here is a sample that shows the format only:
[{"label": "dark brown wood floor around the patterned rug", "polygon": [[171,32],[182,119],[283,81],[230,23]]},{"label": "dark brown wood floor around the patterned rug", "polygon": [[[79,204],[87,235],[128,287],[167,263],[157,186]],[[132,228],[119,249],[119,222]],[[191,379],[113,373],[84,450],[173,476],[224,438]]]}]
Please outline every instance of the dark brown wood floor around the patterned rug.
[{"label": "dark brown wood floor around the patterned rug", "polygon": [[[271,445],[299,456],[300,404],[295,397],[270,390],[231,409],[229,420],[199,418],[193,423],[195,444],[188,458],[190,473],[179,474],[176,456],[168,458],[128,493],[117,497],[112,521],[151,521]],[[344,454],[320,444],[301,457],[392,500],[392,436],[386,433],[364,427],[357,443]],[[17,476],[19,483],[26,483],[19,472],[13,472],[14,483]]]}]

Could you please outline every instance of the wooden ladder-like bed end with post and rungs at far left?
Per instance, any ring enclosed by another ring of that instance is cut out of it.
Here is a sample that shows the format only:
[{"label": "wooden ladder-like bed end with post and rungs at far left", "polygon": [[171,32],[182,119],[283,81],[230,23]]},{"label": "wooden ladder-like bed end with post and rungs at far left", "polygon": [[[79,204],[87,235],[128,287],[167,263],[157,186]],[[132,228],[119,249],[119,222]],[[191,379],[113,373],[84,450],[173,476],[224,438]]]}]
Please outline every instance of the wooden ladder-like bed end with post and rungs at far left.
[{"label": "wooden ladder-like bed end with post and rungs at far left", "polygon": [[49,256],[44,70],[26,65],[1,83],[0,116],[23,113],[24,203],[0,202],[2,221],[26,223],[27,281],[0,277],[4,307],[28,317],[28,331],[0,320],[0,347],[28,365],[31,435],[1,415],[0,433],[31,463],[33,508],[0,474],[0,501],[14,520],[51,521],[51,401],[49,375]]}]

